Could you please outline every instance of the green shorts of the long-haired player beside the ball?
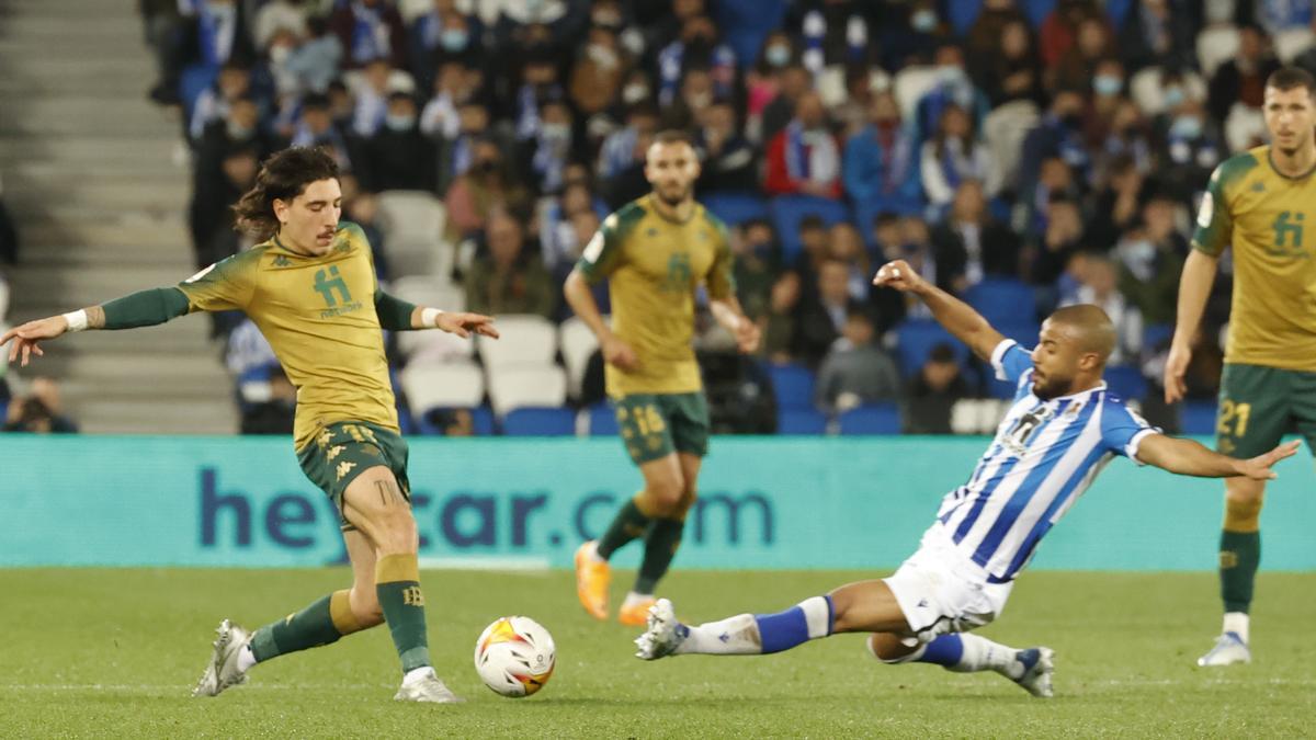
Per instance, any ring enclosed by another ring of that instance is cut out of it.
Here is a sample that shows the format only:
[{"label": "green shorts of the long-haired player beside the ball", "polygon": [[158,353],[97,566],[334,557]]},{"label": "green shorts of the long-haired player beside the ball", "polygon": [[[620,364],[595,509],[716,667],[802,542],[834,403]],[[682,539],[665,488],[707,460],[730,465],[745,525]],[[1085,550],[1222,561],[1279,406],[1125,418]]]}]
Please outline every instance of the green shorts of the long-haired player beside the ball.
[{"label": "green shorts of the long-haired player beside the ball", "polygon": [[333,499],[346,532],[355,527],[343,514],[342,494],[357,475],[376,465],[392,470],[403,496],[411,500],[407,456],[407,442],[396,432],[366,421],[338,421],[321,429],[315,441],[297,450],[297,462],[307,478]]}]

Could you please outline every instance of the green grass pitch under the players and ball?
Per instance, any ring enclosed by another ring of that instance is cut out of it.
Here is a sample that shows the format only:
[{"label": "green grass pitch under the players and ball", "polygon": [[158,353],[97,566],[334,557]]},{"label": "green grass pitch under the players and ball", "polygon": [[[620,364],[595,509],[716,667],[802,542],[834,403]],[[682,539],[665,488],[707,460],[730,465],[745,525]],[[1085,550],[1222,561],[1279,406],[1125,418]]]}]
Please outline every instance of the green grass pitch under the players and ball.
[{"label": "green grass pitch under the players and ball", "polygon": [[[675,571],[683,619],[776,611],[850,571]],[[257,627],[342,587],[345,569],[0,570],[0,736],[857,737],[1257,736],[1316,732],[1316,574],[1266,574],[1255,662],[1203,670],[1219,628],[1212,574],[1028,573],[983,631],[1057,650],[1054,700],[995,674],[886,666],[842,635],[769,657],[632,657],[634,632],[575,600],[570,573],[426,571],[430,650],[461,706],[391,700],[388,633],[258,666],[192,699],[222,616]],[[615,591],[629,582],[619,573]],[[558,645],[553,679],[504,699],[471,666],[495,618],[529,615]]]}]

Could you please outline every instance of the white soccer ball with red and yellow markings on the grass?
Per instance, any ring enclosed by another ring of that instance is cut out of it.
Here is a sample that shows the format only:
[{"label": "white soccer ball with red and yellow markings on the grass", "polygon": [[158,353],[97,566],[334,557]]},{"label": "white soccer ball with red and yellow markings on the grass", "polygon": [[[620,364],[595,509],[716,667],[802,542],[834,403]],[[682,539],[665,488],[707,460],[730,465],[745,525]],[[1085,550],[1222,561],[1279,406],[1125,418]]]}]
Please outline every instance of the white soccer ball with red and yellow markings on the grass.
[{"label": "white soccer ball with red and yellow markings on the grass", "polygon": [[553,636],[529,616],[504,616],[475,641],[475,670],[484,685],[504,697],[529,697],[553,675]]}]

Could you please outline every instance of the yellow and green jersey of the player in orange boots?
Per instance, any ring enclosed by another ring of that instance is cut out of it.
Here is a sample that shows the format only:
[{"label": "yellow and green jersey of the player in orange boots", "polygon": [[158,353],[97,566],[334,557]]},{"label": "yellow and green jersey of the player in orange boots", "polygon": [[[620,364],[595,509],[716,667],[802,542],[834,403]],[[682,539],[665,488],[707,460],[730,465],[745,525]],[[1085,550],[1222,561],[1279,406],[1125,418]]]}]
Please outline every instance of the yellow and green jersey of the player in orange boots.
[{"label": "yellow and green jersey of the player in orange boots", "polygon": [[576,266],[591,283],[608,279],[612,330],[640,358],[622,373],[608,365],[608,394],[686,394],[703,388],[691,340],[695,290],[734,295],[726,225],[703,205],[686,221],[661,216],[646,195],[604,219]]}]

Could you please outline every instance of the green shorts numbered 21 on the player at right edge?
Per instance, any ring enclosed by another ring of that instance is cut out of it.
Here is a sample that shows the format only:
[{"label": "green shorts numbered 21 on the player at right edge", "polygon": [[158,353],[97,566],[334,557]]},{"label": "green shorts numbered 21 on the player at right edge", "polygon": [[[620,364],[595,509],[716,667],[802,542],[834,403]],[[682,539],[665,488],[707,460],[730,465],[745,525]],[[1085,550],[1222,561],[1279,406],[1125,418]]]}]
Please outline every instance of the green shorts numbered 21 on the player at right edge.
[{"label": "green shorts numbered 21 on the player at right edge", "polygon": [[1316,449],[1316,373],[1225,365],[1220,375],[1216,449],[1249,458],[1270,452],[1288,432]]}]

